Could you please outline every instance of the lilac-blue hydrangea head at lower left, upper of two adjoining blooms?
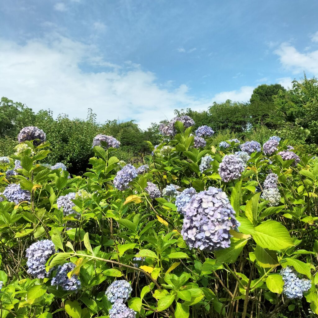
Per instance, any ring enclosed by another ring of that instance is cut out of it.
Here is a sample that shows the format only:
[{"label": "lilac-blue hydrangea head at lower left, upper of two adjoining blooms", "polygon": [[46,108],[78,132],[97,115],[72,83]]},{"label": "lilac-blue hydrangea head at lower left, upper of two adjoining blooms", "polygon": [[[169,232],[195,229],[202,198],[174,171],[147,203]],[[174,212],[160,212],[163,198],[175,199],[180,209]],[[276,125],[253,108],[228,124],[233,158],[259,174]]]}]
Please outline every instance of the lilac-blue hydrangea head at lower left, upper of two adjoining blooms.
[{"label": "lilac-blue hydrangea head at lower left, upper of two adjoining blooms", "polygon": [[45,270],[45,263],[53,254],[55,254],[55,247],[52,241],[45,239],[33,243],[26,249],[28,273],[34,278],[47,277],[48,273]]}]

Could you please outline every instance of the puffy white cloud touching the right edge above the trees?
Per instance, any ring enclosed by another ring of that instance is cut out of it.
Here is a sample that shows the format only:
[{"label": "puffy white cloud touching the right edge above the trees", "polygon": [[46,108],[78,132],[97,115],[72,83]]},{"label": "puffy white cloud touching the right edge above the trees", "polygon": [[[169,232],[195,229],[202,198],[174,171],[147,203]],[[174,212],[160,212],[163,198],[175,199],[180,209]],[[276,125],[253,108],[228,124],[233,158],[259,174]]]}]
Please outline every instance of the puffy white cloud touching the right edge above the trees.
[{"label": "puffy white cloud touching the right edge above the trees", "polygon": [[274,53],[279,56],[280,63],[293,73],[318,73],[318,50],[301,53],[289,43],[282,43]]}]

